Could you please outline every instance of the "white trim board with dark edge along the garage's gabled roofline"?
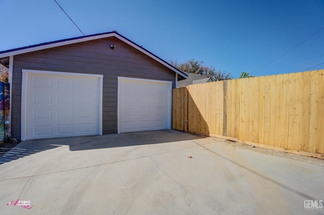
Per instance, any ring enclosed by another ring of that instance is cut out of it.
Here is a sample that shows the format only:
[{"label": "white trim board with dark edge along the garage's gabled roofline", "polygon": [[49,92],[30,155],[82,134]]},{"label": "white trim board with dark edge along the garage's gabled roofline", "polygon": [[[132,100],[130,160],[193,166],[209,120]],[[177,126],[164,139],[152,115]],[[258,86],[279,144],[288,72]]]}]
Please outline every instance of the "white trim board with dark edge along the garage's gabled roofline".
[{"label": "white trim board with dark edge along the garage's gabled roofline", "polygon": [[142,48],[140,46],[138,46],[137,44],[135,44],[135,42],[133,42],[133,41],[127,39],[126,37],[118,34],[116,31],[112,31],[112,32],[108,32],[108,33],[101,33],[101,34],[93,34],[93,35],[89,35],[89,36],[75,37],[75,38],[71,38],[71,39],[58,40],[58,41],[53,41],[53,42],[46,42],[45,44],[39,44],[39,45],[35,45],[35,46],[29,46],[29,47],[23,47],[23,48],[3,51],[3,52],[0,52],[0,58],[5,58],[5,57],[9,57],[9,56],[19,55],[19,54],[24,54],[24,53],[28,53],[28,52],[34,52],[34,51],[39,51],[39,50],[44,50],[44,49],[49,49],[49,48],[54,48],[54,47],[59,47],[59,46],[65,46],[65,45],[69,45],[69,44],[75,44],[77,42],[84,42],[84,41],[89,41],[89,40],[112,37],[112,36],[120,39],[121,41],[126,42],[126,44],[132,46],[133,48],[137,49],[138,51],[140,51],[140,52],[144,53],[145,55],[151,57],[152,59],[159,62],[160,64],[163,64],[164,66],[166,66],[169,69],[171,69],[172,71],[178,73],[182,77],[188,78],[188,76],[185,73],[183,73],[180,70],[178,70],[177,68],[173,67],[168,62],[160,59],[159,57],[157,57],[153,53],[147,51],[146,49],[144,49],[144,48]]}]

